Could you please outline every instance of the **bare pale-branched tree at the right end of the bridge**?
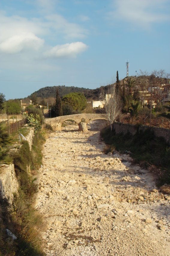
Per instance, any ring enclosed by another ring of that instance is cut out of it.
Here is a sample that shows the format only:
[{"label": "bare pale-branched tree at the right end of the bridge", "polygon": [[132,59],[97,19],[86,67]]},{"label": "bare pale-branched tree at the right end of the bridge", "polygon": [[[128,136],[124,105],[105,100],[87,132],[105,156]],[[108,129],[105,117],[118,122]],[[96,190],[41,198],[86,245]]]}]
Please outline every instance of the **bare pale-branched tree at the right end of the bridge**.
[{"label": "bare pale-branched tree at the right end of the bridge", "polygon": [[112,131],[112,123],[121,114],[123,106],[121,101],[121,95],[116,92],[114,84],[108,85],[105,88],[102,86],[100,87],[100,89],[104,105],[103,110],[107,116]]}]

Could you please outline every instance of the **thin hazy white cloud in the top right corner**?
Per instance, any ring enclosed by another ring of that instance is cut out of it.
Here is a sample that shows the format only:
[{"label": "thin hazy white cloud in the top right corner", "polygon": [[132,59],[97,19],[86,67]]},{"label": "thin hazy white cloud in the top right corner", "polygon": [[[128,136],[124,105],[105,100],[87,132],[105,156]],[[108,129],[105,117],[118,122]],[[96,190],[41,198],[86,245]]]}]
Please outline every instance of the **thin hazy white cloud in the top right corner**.
[{"label": "thin hazy white cloud in the top right corner", "polygon": [[112,0],[114,11],[109,12],[110,19],[121,19],[134,25],[147,27],[151,23],[169,20],[169,15],[162,13],[167,0]]}]

